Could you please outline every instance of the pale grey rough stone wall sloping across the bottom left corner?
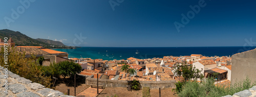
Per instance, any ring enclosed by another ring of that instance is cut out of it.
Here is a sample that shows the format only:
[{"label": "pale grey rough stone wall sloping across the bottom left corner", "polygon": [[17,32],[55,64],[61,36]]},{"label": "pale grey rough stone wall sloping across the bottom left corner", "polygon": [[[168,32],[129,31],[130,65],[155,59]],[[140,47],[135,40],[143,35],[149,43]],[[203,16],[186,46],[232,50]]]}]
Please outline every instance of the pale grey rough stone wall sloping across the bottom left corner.
[{"label": "pale grey rough stone wall sloping across the bottom left corner", "polygon": [[[7,76],[8,75],[8,76]],[[7,78],[8,77],[8,78]],[[69,97],[60,91],[46,88],[45,86],[32,83],[32,81],[19,77],[0,66],[0,96],[60,96]]]}]

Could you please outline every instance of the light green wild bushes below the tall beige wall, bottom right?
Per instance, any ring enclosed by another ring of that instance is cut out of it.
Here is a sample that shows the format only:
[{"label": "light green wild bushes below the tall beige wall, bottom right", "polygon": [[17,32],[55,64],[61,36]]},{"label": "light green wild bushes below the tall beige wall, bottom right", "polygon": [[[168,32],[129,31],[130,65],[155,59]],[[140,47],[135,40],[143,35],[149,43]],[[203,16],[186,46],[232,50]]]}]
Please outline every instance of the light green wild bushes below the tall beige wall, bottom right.
[{"label": "light green wild bushes below the tall beige wall, bottom right", "polygon": [[236,92],[249,89],[252,86],[256,85],[256,82],[251,84],[251,81],[248,77],[244,81],[235,83],[231,86],[219,86],[214,85],[214,78],[211,77],[198,83],[195,81],[189,81],[184,86],[179,96],[225,96],[233,95]]}]

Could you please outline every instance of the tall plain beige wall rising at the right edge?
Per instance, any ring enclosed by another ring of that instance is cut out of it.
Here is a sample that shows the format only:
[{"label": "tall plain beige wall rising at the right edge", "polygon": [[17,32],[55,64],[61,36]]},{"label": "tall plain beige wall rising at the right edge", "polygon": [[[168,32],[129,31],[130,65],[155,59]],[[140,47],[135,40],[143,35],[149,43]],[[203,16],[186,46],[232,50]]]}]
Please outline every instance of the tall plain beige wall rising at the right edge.
[{"label": "tall plain beige wall rising at the right edge", "polygon": [[256,50],[235,54],[232,56],[231,83],[242,81],[248,76],[252,82],[256,81]]}]

